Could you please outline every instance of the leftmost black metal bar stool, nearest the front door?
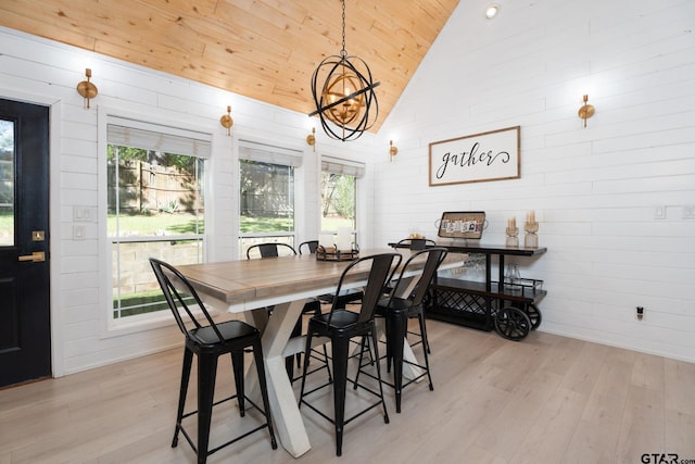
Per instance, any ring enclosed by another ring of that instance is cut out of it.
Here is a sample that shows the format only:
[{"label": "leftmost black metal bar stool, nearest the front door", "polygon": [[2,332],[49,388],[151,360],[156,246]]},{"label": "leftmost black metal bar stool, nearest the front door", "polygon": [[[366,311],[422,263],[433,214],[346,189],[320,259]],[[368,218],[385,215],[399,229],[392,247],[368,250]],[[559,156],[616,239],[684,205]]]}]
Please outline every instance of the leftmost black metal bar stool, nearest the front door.
[{"label": "leftmost black metal bar stool, nearest the front door", "polygon": [[[275,432],[273,431],[273,421],[270,419],[263,349],[261,348],[261,333],[258,329],[241,321],[228,321],[215,324],[191,284],[178,269],[154,258],[150,259],[150,264],[160,283],[166,302],[174,314],[174,318],[176,318],[176,323],[186,336],[181,386],[179,390],[178,411],[176,413],[176,429],[174,430],[172,448],[178,444],[178,434],[180,431],[193,451],[195,451],[198,462],[201,464],[205,463],[210,454],[267,427],[268,434],[270,435],[270,446],[274,450],[277,449],[278,446],[275,439]],[[198,322],[192,313],[192,309],[201,311],[207,325],[203,326]],[[243,355],[244,351],[249,349],[253,351],[258,373],[263,409],[258,407],[244,394]],[[227,353],[231,354],[237,392],[224,400],[214,402],[217,359]],[[198,356],[198,410],[184,414],[193,354]],[[252,430],[210,450],[210,424],[213,406],[225,401],[233,400],[235,398],[237,399],[239,412],[242,417],[245,415],[245,401],[248,401],[263,414],[265,422]],[[198,414],[197,443],[193,442],[193,439],[181,425],[184,418],[194,414]]]}]

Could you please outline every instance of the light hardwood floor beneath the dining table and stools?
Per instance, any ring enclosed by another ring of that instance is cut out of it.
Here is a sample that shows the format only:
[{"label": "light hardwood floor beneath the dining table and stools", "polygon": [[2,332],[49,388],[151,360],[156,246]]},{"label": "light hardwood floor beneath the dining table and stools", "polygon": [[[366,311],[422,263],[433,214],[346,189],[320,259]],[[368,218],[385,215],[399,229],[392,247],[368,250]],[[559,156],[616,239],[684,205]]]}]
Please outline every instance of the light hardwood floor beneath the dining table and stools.
[{"label": "light hardwood floor beneath the dining table and stools", "polygon": [[[434,321],[428,331],[434,391],[409,386],[396,414],[387,390],[390,424],[379,410],[349,424],[342,457],[332,426],[302,409],[313,448],[299,460],[258,432],[208,462],[583,464],[678,453],[695,463],[695,364],[538,331],[521,342]],[[169,447],[181,354],[0,391],[0,464],[194,462],[184,440]],[[231,385],[220,362],[217,391]],[[213,441],[249,415],[216,412]]]}]

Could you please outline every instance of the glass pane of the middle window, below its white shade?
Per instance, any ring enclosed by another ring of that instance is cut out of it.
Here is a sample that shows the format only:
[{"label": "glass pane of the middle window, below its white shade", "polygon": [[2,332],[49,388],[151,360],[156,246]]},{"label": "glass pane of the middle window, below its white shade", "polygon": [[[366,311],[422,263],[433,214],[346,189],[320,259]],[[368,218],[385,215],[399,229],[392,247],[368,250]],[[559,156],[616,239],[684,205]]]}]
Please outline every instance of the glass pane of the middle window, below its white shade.
[{"label": "glass pane of the middle window, below its white shade", "polygon": [[294,231],[294,170],[241,160],[241,234]]}]

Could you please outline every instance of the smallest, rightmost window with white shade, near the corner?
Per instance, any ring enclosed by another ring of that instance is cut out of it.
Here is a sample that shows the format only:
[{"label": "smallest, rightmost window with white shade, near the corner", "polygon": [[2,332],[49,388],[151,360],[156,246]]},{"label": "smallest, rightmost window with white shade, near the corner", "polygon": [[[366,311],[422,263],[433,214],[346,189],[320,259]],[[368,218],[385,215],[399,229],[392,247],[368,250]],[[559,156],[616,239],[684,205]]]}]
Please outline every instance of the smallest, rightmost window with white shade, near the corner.
[{"label": "smallest, rightmost window with white shade, near the corner", "polygon": [[364,165],[328,156],[321,159],[321,230],[356,230],[357,177]]}]

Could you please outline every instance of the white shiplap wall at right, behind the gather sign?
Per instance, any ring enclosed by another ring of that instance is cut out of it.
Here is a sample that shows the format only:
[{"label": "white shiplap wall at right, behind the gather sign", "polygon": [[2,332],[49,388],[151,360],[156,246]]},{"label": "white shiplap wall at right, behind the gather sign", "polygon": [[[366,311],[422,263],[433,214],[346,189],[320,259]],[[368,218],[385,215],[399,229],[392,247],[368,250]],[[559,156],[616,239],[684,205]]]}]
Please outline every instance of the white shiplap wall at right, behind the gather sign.
[{"label": "white shiplap wall at right, behind the gather sign", "polygon": [[[545,280],[541,330],[695,361],[695,2],[486,3],[460,2],[381,129],[400,153],[376,166],[375,241],[483,210],[504,243],[535,210],[548,252],[518,262]],[[516,125],[520,179],[428,187],[428,143]]]}]

